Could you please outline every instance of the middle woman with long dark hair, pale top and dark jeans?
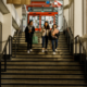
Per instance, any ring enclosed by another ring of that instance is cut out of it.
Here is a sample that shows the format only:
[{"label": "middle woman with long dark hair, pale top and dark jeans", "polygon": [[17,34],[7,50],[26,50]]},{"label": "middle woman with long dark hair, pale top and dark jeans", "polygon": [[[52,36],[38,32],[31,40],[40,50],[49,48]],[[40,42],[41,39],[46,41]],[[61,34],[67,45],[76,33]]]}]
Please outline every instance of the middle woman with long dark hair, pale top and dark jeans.
[{"label": "middle woman with long dark hair, pale top and dark jeans", "polygon": [[[46,51],[48,51],[47,46],[48,46],[48,37],[50,32],[50,26],[48,22],[45,22],[45,25],[41,28],[41,32],[42,32],[42,52],[45,52],[45,48],[46,48]],[[46,41],[46,47],[45,47],[45,41]]]}]

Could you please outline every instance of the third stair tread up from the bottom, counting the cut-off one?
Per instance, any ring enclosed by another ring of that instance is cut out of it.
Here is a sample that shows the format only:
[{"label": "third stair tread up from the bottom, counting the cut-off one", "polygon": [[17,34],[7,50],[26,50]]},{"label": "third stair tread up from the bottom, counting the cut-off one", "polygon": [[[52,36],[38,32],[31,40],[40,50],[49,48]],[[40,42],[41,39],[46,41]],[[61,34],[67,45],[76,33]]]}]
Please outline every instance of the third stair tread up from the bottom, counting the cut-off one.
[{"label": "third stair tread up from the bottom, counting the cut-off one", "polygon": [[1,78],[84,78],[84,75],[1,75]]}]

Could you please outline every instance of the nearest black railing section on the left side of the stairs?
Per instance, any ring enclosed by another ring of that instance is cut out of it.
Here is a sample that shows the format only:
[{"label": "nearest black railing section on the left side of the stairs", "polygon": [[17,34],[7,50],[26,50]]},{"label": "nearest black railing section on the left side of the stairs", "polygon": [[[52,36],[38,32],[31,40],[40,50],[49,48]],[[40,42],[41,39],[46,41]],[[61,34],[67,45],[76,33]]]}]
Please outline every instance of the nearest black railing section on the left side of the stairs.
[{"label": "nearest black railing section on the left side of the stairs", "polygon": [[[2,42],[0,42],[0,44],[2,44]],[[12,48],[12,37],[9,36],[9,38],[5,42],[5,46],[3,48],[3,51],[1,52],[1,55],[0,55],[0,87],[1,87],[1,72],[7,72],[7,59],[8,58],[10,59],[12,55],[11,48]],[[7,58],[7,55],[9,55],[9,57]],[[3,60],[3,62],[4,62],[4,69],[1,67],[1,60]]]}]

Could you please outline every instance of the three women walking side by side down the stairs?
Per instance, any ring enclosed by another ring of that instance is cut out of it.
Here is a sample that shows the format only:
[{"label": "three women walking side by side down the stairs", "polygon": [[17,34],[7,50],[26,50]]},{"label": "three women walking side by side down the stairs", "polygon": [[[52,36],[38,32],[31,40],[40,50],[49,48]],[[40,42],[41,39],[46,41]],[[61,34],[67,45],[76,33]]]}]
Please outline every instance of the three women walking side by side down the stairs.
[{"label": "three women walking side by side down the stairs", "polygon": [[[35,33],[35,27],[33,26],[33,21],[29,22],[28,26],[25,28],[25,38],[27,42],[27,53],[33,51],[33,35]],[[58,48],[58,38],[59,38],[60,32],[58,29],[57,24],[53,24],[52,29],[50,29],[50,26],[48,22],[45,22],[44,27],[41,28],[41,36],[42,36],[42,52],[48,51],[48,40],[50,40],[51,48],[53,50],[53,54],[55,54],[57,48]],[[55,42],[55,45],[54,45]]]}]

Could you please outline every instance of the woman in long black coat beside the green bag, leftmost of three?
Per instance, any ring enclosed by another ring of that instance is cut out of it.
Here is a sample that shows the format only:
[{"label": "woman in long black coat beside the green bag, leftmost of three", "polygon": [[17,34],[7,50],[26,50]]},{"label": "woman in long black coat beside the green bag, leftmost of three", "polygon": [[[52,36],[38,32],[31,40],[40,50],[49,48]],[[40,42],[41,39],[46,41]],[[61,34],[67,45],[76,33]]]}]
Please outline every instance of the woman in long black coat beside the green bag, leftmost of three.
[{"label": "woman in long black coat beside the green bag, leftmost of three", "polygon": [[30,21],[25,29],[25,41],[27,42],[27,53],[29,53],[29,51],[33,51],[32,46],[33,46],[34,32],[35,32],[35,27],[33,26],[33,21]]}]

